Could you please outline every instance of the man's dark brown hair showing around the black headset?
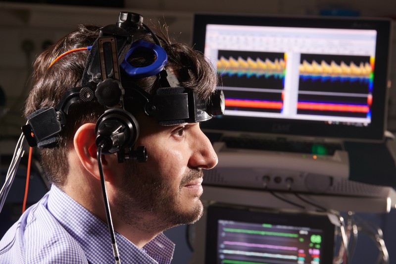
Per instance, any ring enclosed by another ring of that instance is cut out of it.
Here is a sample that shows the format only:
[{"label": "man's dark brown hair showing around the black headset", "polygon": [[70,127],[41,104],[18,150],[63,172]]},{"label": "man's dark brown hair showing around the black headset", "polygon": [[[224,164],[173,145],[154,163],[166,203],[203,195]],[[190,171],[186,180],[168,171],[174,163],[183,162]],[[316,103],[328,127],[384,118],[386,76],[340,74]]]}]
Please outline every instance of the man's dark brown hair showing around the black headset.
[{"label": "man's dark brown hair showing around the black headset", "polygon": [[[93,45],[99,36],[99,29],[98,26],[80,25],[38,56],[33,65],[33,89],[27,99],[25,117],[38,109],[55,107],[67,89],[81,85],[88,51],[67,54],[50,68],[48,67],[62,53]],[[155,31],[161,37],[161,45],[168,54],[168,63],[165,67],[172,68],[176,73],[188,67],[192,74],[188,79],[179,80],[180,85],[193,89],[200,98],[207,99],[217,85],[216,73],[209,62],[201,53],[187,45],[171,43],[163,31]],[[153,42],[149,35],[143,39]],[[143,56],[137,58],[134,64],[134,66],[144,66],[150,64],[150,59]],[[135,83],[149,93],[153,93],[157,88],[155,76],[138,79]],[[103,112],[104,107],[96,101],[75,103],[69,107],[67,122],[58,137],[57,144],[43,148],[41,152],[42,164],[49,182],[58,187],[65,184],[67,180],[65,175],[69,169],[67,154],[72,147],[75,132],[84,123],[96,123]]]}]

